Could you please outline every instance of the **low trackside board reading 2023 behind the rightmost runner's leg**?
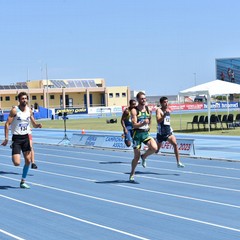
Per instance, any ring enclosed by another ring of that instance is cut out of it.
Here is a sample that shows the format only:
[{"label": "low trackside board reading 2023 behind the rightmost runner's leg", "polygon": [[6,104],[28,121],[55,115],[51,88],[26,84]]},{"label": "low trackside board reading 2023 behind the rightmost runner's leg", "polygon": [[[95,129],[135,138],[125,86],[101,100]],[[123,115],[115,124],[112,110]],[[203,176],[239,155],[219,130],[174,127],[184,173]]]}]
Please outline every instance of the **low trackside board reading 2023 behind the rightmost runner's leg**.
[{"label": "low trackside board reading 2023 behind the rightmost runner's leg", "polygon": [[[178,143],[178,151],[180,154],[186,155],[195,155],[194,150],[194,139],[177,139]],[[162,142],[162,146],[160,148],[160,152],[162,153],[174,153],[173,145],[169,142]]]}]

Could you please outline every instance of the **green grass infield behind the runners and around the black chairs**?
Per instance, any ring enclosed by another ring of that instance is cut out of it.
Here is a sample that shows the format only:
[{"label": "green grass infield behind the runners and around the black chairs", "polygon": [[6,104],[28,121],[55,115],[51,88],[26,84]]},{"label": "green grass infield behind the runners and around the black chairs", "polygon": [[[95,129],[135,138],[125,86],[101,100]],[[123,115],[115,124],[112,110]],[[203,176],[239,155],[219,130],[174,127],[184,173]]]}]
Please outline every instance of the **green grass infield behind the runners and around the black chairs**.
[{"label": "green grass infield behind the runners and around the black chairs", "polygon": [[[231,112],[236,116],[237,112]],[[225,112],[221,112],[221,115],[227,114]],[[174,129],[175,133],[189,133],[189,134],[210,134],[210,135],[226,135],[226,136],[240,136],[240,127],[236,127],[235,129],[230,128],[226,129],[226,124],[224,124],[224,129],[221,129],[220,124],[218,124],[217,130],[212,129],[211,132],[206,129],[204,131],[203,127],[201,126],[200,130],[197,129],[197,126],[195,126],[195,129],[192,130],[192,126],[188,126],[188,130],[186,130],[187,122],[191,122],[193,115],[196,115],[195,113],[187,113],[187,114],[172,114],[171,115],[171,126]],[[207,113],[204,114],[198,114],[198,115],[207,115]],[[68,119],[66,121],[67,129],[74,129],[74,130],[99,130],[99,131],[122,131],[122,126],[120,123],[120,117],[117,118],[117,123],[107,124],[106,120],[110,119],[111,117],[105,118],[80,118],[80,119]],[[115,117],[114,117],[115,118]],[[63,129],[64,128],[64,121],[63,120],[39,120],[38,122],[41,122],[43,124],[43,128],[51,128],[51,129]],[[0,125],[4,125],[4,123],[0,123]],[[153,116],[152,119],[152,125],[151,125],[151,132],[156,132],[157,124],[155,120],[155,116]]]}]

